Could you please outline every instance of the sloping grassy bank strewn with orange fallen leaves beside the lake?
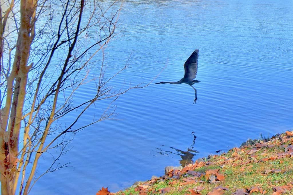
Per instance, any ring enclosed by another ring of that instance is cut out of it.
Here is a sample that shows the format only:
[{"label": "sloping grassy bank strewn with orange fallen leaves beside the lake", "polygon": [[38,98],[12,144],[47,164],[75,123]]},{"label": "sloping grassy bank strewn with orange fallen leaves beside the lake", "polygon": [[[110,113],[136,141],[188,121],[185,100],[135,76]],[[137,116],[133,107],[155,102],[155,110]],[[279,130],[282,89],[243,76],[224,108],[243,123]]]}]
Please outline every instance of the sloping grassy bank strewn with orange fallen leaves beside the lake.
[{"label": "sloping grassy bank strewn with orange fallen leaves beside the lake", "polygon": [[129,194],[292,194],[293,132],[233,148],[207,162],[195,162],[182,170],[171,169],[162,177],[141,182],[125,191],[97,195]]}]

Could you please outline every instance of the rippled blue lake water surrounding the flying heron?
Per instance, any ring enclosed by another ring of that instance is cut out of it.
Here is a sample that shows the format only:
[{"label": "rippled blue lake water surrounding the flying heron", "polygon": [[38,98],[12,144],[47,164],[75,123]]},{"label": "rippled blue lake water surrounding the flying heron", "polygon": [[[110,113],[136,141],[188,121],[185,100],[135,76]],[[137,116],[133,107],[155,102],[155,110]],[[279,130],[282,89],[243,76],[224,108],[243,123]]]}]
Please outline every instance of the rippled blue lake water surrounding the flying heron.
[{"label": "rippled blue lake water surrounding the flying heron", "polygon": [[[72,167],[45,175],[31,194],[118,191],[163,175],[167,165],[292,129],[292,24],[291,0],[124,1],[121,36],[106,50],[107,73],[129,56],[131,67],[113,84],[147,84],[159,73],[155,82],[178,81],[199,48],[199,100],[193,104],[186,84],[150,84],[120,96],[117,120],[77,134],[61,158]],[[76,101],[91,91],[85,88]],[[99,111],[91,109],[81,123]]]}]

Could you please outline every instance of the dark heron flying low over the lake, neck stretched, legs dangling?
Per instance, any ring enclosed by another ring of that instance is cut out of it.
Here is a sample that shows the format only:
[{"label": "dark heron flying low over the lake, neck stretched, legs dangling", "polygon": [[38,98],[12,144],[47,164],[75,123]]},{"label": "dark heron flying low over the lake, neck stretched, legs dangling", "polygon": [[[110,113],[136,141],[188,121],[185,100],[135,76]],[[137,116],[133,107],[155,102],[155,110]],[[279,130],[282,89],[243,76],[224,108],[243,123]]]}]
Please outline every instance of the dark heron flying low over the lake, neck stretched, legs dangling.
[{"label": "dark heron flying low over the lake, neck stretched, legs dangling", "polygon": [[195,49],[195,51],[193,51],[193,53],[189,56],[189,58],[186,60],[186,62],[184,63],[184,77],[182,79],[180,79],[179,81],[176,82],[159,82],[159,83],[155,83],[155,84],[165,84],[165,83],[170,83],[170,84],[181,84],[181,83],[186,83],[188,85],[190,85],[190,87],[192,87],[195,91],[195,98],[194,98],[194,102],[197,102],[197,95],[196,95],[196,89],[192,86],[195,83],[199,83],[199,80],[193,80],[196,78],[196,74],[197,74],[197,59],[198,59],[198,52],[199,49]]}]

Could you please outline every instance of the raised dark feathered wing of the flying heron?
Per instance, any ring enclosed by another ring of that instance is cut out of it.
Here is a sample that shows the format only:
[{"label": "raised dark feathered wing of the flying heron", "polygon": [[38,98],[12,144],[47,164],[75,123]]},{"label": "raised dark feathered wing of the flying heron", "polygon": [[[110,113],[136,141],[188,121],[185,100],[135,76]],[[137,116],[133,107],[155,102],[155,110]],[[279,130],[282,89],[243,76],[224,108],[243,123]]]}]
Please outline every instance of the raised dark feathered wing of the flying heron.
[{"label": "raised dark feathered wing of the flying heron", "polygon": [[196,49],[184,63],[184,78],[194,79],[197,73],[198,51]]}]

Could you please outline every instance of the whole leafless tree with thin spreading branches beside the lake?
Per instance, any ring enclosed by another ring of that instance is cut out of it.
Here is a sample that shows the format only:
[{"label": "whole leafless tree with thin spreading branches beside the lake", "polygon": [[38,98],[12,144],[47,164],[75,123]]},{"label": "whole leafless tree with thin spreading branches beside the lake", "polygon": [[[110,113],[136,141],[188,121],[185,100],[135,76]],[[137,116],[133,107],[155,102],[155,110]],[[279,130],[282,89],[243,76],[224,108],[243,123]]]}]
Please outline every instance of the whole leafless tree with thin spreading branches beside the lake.
[{"label": "whole leafless tree with thin spreading branches beside the lake", "polygon": [[[0,6],[0,180],[2,194],[28,194],[56,165],[71,138],[85,127],[112,118],[111,104],[129,89],[115,90],[110,81],[127,68],[106,76],[104,49],[115,36],[119,7],[113,1],[1,0]],[[96,55],[99,53],[100,55]],[[98,56],[98,57],[97,57]],[[97,77],[90,78],[93,64]],[[94,94],[76,103],[74,94],[91,82]],[[109,106],[91,122],[79,119],[98,100]],[[77,112],[75,112],[77,111]],[[58,123],[71,115],[64,127]],[[40,157],[52,148],[60,154],[45,173],[36,174]],[[18,188],[19,187],[19,188]]]}]

